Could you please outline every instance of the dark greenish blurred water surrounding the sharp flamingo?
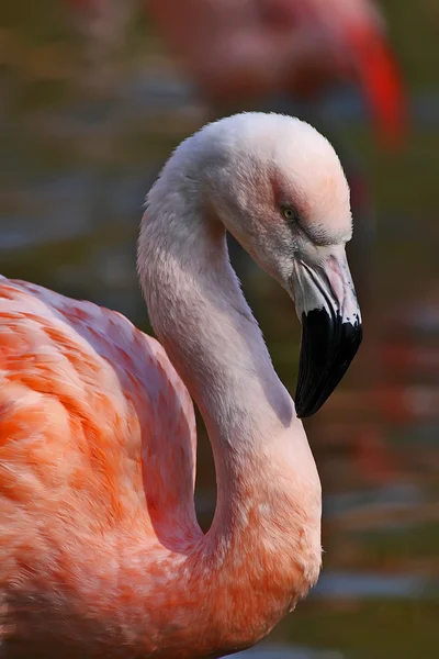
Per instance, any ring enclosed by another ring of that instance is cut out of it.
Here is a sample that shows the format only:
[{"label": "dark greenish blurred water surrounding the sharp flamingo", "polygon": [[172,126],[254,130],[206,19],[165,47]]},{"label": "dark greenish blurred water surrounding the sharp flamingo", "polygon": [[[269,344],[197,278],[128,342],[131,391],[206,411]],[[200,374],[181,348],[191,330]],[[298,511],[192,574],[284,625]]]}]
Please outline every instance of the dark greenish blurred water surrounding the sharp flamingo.
[{"label": "dark greenish blurred water surrounding the sharp flamingo", "polygon": [[[427,0],[415,13],[410,5],[386,2],[412,85],[406,148],[380,152],[349,99],[327,114],[373,198],[373,249],[363,213],[351,259],[365,338],[342,387],[307,425],[325,493],[322,579],[255,657],[438,656],[439,12]],[[35,7],[1,10],[0,270],[117,309],[148,330],[134,260],[143,199],[203,113],[167,76],[142,24],[130,26],[119,49],[103,40],[85,65],[83,42],[63,24],[59,7]],[[234,258],[293,391],[292,305],[239,252]],[[213,483],[202,435],[198,505],[205,525]]]}]

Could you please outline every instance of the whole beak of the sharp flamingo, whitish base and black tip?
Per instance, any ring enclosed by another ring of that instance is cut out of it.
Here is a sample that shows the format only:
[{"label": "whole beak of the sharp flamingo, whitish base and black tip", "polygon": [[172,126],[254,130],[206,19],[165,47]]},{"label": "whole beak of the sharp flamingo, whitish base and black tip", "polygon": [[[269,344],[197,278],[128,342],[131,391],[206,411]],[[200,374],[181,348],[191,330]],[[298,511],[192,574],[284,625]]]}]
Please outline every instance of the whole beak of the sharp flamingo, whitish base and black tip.
[{"label": "whole beak of the sharp flamingo, whitish base and black tip", "polygon": [[318,263],[297,260],[292,287],[302,322],[295,409],[305,417],[322,407],[348,370],[362,339],[361,314],[344,247],[333,247]]}]

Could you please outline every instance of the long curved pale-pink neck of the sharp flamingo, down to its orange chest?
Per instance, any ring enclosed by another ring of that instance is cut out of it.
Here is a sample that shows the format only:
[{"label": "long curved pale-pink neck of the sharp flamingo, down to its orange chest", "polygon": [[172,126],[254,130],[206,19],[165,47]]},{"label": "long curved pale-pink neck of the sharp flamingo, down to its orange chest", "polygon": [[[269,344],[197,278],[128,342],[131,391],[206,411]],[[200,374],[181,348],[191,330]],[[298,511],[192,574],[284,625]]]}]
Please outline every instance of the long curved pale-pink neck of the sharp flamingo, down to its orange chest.
[{"label": "long curved pale-pink neck of the sharp flamingo, down to its orange chest", "polygon": [[[246,615],[234,611],[229,619],[241,619],[237,644],[239,634],[255,640],[317,578],[315,463],[229,264],[217,217],[202,213],[196,197],[191,203],[167,197],[160,212],[150,199],[138,266],[153,326],[200,409],[215,460],[215,516],[191,566],[201,590],[211,588],[216,603],[224,599],[216,607],[223,619],[232,602],[241,607],[246,601]],[[215,616],[211,612],[214,627]]]}]

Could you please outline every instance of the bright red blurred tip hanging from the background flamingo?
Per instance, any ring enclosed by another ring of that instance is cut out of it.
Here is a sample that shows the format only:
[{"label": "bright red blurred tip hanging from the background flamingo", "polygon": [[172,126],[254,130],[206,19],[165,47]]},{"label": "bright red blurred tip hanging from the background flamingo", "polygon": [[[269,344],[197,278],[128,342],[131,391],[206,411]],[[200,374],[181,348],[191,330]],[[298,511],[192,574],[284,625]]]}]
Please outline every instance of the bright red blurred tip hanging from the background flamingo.
[{"label": "bright red blurred tip hanging from the background flamingo", "polygon": [[407,130],[403,81],[389,44],[376,29],[358,27],[347,34],[354,74],[384,146],[398,146]]}]

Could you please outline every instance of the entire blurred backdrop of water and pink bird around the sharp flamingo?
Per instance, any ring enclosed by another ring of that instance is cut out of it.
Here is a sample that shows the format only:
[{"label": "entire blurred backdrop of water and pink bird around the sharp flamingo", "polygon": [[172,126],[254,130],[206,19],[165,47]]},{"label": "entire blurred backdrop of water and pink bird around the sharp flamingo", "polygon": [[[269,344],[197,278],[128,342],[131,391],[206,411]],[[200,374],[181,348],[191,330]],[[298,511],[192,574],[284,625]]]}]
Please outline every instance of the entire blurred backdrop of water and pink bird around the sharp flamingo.
[{"label": "entire blurred backdrop of water and pink bird around the sharp flamingo", "polygon": [[[243,657],[434,658],[439,3],[217,0],[209,14],[212,4],[2,3],[0,271],[116,309],[150,332],[136,235],[170,150],[243,109],[292,113],[326,134],[351,183],[364,343],[306,424],[324,490],[322,578]],[[230,253],[294,391],[293,305],[232,242]],[[215,477],[202,424],[196,503],[209,527]]]}]

